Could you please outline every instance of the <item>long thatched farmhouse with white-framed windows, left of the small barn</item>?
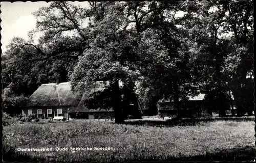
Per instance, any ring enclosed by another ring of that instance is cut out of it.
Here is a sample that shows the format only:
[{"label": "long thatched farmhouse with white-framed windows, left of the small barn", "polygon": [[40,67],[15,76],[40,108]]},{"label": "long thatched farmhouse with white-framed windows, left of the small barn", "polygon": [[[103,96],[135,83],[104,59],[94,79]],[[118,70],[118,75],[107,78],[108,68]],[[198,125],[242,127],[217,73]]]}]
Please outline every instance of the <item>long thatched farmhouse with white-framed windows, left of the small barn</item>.
[{"label": "long thatched farmhouse with white-framed windows, left of the small barn", "polygon": [[[120,84],[119,84],[120,86]],[[88,92],[72,93],[70,83],[51,83],[42,84],[23,105],[22,114],[35,115],[41,119],[105,119],[114,118],[112,108],[92,109],[84,105],[84,101],[90,94],[104,89],[102,82],[96,82],[96,86]],[[141,118],[141,107],[133,97],[129,100],[128,108],[130,111],[125,113],[134,114],[136,118]]]}]

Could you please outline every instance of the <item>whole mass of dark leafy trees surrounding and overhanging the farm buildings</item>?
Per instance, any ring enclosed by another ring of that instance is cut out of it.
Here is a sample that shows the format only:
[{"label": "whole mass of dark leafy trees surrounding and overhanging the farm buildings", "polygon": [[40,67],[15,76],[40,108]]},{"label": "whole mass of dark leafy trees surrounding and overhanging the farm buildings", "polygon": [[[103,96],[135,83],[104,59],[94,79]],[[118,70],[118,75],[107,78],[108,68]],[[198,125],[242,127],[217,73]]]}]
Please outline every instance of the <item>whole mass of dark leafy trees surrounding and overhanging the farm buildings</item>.
[{"label": "whole mass of dark leafy trees surrounding and overhanging the farm buildings", "polygon": [[33,13],[37,22],[30,39],[13,38],[2,55],[4,111],[20,113],[20,103],[40,84],[60,77],[73,91],[109,80],[110,94],[119,101],[112,103],[118,123],[118,80],[137,94],[145,113],[156,110],[160,98],[179,107],[179,99],[185,102],[200,90],[220,115],[229,92],[237,115],[251,115],[252,13],[248,0],[89,2],[88,8],[51,2]]}]

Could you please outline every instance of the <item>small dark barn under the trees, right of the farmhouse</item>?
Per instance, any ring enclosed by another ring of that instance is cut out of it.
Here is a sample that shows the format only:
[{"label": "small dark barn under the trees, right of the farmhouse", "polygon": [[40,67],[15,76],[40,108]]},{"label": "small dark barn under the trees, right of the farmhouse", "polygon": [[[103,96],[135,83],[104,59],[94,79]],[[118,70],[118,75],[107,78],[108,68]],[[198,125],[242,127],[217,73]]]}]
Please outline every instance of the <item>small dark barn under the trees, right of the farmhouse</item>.
[{"label": "small dark barn under the trees, right of the farmhouse", "polygon": [[174,107],[174,102],[169,100],[160,99],[157,102],[158,106],[158,117],[170,117],[177,116],[178,112],[182,112],[185,116],[196,116],[200,117],[203,115],[209,115],[207,108],[204,107],[204,96],[205,94],[199,94],[197,96],[188,96],[186,102],[186,110],[184,110],[183,103],[180,102],[180,109],[177,110]]}]

